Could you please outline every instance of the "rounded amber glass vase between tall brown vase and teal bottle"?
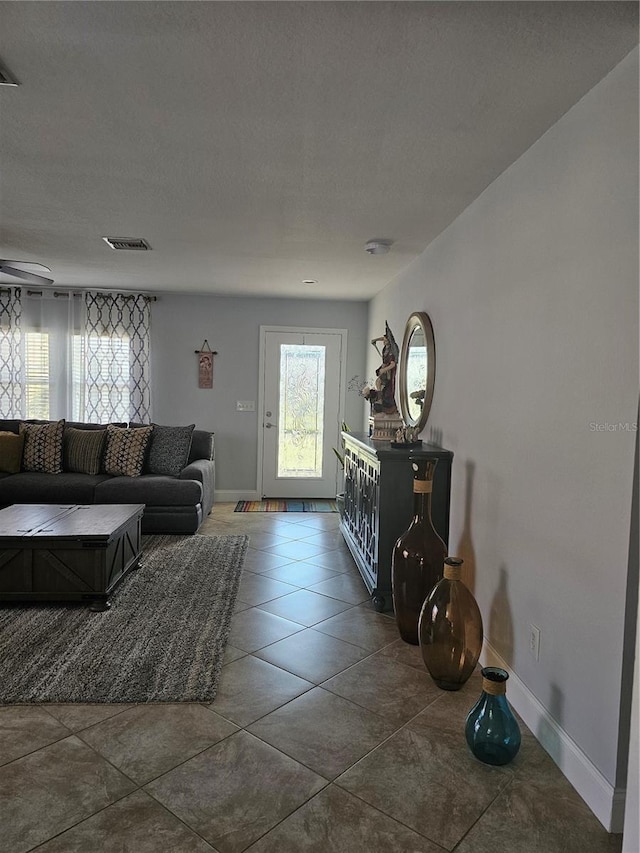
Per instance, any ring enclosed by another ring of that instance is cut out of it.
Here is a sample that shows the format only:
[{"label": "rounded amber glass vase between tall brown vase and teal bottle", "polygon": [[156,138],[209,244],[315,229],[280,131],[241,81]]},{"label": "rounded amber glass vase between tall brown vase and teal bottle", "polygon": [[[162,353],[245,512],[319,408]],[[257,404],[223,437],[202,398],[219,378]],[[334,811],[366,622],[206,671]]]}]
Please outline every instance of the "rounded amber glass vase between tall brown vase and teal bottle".
[{"label": "rounded amber glass vase between tall brown vase and teal bottle", "polygon": [[444,561],[444,577],[422,605],[418,626],[424,665],[443,690],[459,690],[482,651],[482,616],[460,579],[462,562],[456,557]]}]

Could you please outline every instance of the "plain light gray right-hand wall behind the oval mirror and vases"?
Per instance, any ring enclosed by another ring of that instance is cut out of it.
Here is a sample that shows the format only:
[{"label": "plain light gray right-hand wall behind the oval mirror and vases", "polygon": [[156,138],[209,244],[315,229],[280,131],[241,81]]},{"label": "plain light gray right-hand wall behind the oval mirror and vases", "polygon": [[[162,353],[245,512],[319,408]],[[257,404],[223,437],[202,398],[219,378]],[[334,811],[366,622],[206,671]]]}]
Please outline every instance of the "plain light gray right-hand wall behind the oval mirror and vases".
[{"label": "plain light gray right-hand wall behind the oval mirror and vases", "polygon": [[637,50],[376,297],[369,337],[388,320],[400,343],[419,310],[437,358],[423,437],[455,453],[451,550],[489,646],[561,766],[612,795],[635,435],[591,425],[637,418]]}]

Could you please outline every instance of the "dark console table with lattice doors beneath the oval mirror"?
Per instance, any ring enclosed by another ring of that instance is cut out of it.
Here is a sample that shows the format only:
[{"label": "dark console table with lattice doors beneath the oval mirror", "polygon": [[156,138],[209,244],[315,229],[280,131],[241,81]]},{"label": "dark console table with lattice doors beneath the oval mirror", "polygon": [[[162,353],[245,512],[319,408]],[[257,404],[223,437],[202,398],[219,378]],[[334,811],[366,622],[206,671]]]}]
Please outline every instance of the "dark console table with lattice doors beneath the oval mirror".
[{"label": "dark console table with lattice doors beneath the oval mirror", "polygon": [[378,611],[392,608],[393,546],[413,518],[413,470],[410,456],[437,459],[431,517],[448,545],[451,462],[453,453],[433,444],[394,449],[389,441],[372,441],[343,432],[344,515],[340,530]]}]

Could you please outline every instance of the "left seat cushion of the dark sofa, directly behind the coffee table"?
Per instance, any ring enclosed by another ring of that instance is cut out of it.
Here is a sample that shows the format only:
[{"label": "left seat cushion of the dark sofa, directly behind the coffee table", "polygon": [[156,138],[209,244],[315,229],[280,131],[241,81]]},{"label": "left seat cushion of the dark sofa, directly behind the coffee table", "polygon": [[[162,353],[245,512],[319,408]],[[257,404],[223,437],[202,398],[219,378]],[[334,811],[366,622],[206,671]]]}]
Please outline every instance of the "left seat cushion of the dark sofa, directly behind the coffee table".
[{"label": "left seat cushion of the dark sofa, directly behind the coffee table", "polygon": [[92,504],[95,503],[96,485],[108,479],[104,474],[42,474],[38,471],[23,471],[0,478],[0,504]]}]

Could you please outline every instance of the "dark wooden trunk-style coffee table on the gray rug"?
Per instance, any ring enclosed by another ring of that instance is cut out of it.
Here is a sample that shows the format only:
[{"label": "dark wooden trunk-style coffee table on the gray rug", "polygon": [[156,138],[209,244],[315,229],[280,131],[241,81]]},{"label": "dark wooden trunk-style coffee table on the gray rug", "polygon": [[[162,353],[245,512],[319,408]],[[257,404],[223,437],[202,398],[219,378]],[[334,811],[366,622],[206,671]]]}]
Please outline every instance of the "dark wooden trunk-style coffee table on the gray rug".
[{"label": "dark wooden trunk-style coffee table on the gray rug", "polygon": [[0,601],[86,601],[139,565],[144,504],[14,504],[0,510]]}]

